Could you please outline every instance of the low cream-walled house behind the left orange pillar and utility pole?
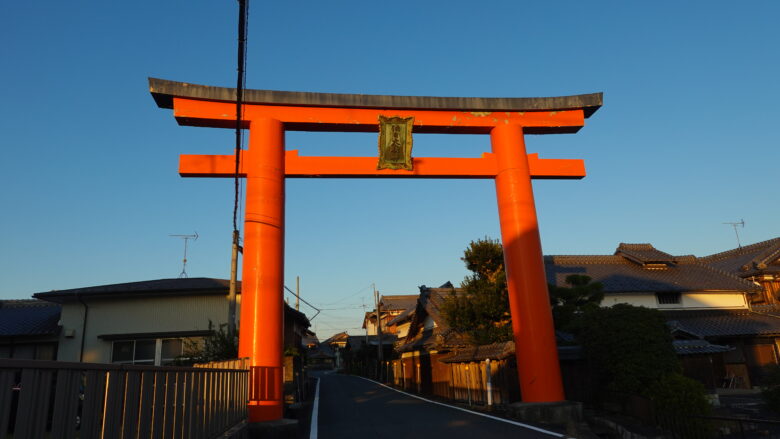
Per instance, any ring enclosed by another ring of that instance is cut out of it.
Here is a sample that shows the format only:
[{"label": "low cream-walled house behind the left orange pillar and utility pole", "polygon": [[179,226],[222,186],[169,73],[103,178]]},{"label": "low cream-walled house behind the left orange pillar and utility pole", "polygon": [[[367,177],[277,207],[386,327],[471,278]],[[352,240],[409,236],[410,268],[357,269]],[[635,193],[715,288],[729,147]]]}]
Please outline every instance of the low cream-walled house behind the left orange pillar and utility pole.
[{"label": "low cream-walled house behind the left orange pillar and utility pole", "polygon": [[[224,279],[181,278],[34,297],[62,309],[57,360],[167,365],[185,353],[187,340],[197,341],[227,324],[228,288]],[[240,309],[240,294],[237,302]],[[285,305],[286,348],[301,347],[308,327],[303,313]]]}]

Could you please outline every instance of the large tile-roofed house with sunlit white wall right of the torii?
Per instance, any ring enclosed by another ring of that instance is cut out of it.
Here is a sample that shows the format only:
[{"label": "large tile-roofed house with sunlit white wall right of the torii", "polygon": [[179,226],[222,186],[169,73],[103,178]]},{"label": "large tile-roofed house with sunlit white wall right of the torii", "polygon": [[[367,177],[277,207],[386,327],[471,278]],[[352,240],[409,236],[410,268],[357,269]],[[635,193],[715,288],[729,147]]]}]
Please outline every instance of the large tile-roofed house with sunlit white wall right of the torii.
[{"label": "large tile-roofed house with sunlit white wall right of the torii", "polygon": [[763,367],[777,363],[780,317],[751,308],[762,288],[714,267],[711,259],[620,244],[612,255],[545,256],[544,262],[552,285],[566,286],[571,274],[601,282],[602,306],[628,303],[661,311],[684,366],[689,363],[686,370],[696,370],[697,362],[710,365],[698,374],[705,384],[760,385]]}]

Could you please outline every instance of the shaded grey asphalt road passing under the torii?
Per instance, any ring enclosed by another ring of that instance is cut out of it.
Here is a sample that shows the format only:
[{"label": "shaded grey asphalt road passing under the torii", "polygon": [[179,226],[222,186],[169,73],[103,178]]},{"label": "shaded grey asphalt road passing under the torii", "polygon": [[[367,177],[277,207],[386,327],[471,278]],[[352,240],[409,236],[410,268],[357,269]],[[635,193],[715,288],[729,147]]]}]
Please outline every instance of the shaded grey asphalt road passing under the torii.
[{"label": "shaded grey asphalt road passing under the torii", "polygon": [[560,437],[426,402],[355,376],[323,375],[319,385],[312,439]]}]

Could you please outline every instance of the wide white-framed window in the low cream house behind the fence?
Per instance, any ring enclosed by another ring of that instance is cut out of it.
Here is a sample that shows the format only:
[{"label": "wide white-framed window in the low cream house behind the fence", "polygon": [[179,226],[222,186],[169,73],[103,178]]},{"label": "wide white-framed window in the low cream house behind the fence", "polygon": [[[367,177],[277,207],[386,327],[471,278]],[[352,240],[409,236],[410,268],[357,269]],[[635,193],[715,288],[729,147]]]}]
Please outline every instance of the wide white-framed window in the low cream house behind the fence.
[{"label": "wide white-framed window in the low cream house behind the fence", "polygon": [[147,366],[170,365],[181,356],[184,343],[180,338],[151,338],[115,341],[111,362]]}]

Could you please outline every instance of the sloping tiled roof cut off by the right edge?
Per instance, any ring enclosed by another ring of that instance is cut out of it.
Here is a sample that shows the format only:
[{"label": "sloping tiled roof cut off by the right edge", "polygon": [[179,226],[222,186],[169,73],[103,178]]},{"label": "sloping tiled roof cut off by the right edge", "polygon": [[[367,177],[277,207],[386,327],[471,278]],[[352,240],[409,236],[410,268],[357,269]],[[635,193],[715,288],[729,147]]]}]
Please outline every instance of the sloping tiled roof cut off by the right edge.
[{"label": "sloping tiled roof cut off by the right edge", "polygon": [[780,238],[704,256],[699,261],[738,276],[780,273]]}]

